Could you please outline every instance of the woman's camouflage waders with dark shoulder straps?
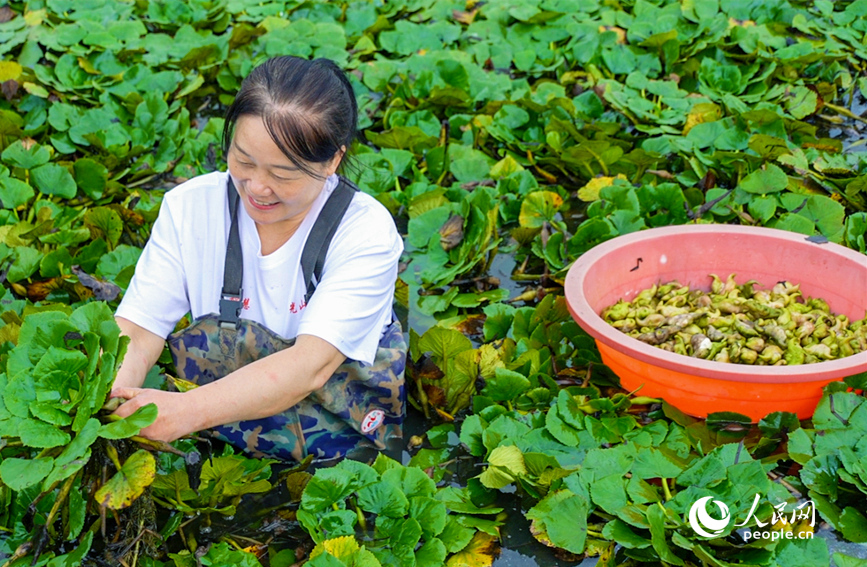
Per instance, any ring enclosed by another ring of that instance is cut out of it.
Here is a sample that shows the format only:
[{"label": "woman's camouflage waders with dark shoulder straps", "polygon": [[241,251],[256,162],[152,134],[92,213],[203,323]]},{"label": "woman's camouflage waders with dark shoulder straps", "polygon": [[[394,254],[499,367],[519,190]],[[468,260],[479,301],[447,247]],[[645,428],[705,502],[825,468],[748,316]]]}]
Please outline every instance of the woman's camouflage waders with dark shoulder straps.
[{"label": "woman's camouflage waders with dark shoulder straps", "polygon": [[[353,189],[341,178],[307,239],[301,257],[308,290],[305,302],[315,290],[331,236],[349,205]],[[231,180],[227,190],[232,229],[220,314],[199,317],[168,339],[178,376],[200,385],[295,342],[277,336],[255,321],[238,317],[242,264],[237,239],[238,194]],[[308,454],[317,458],[345,456],[358,447],[385,449],[390,440],[402,435],[406,350],[400,324],[395,320],[380,339],[371,366],[347,359],[322,389],[288,410],[264,419],[215,427],[213,433],[254,456],[287,460],[301,460]]]}]

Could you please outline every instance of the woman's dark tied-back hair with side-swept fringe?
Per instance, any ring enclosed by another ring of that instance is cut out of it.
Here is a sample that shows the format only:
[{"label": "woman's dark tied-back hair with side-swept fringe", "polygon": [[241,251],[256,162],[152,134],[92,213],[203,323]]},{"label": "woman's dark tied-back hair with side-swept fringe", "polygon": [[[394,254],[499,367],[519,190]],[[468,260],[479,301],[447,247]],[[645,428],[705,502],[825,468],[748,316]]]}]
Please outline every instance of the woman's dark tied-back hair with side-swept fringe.
[{"label": "woman's dark tied-back hair with side-swept fringe", "polygon": [[[281,56],[250,72],[226,110],[223,155],[228,156],[241,116],[259,116],[280,151],[301,171],[324,163],[341,146],[349,152],[358,127],[358,105],[346,74],[330,59]],[[340,169],[346,162],[341,160]]]}]

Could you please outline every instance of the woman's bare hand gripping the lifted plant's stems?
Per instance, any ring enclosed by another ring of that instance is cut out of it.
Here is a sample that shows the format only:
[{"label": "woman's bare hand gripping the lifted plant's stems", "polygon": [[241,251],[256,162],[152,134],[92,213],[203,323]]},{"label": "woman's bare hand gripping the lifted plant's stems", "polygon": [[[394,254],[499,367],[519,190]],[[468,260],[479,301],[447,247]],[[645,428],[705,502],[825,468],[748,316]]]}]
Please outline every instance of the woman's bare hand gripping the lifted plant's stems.
[{"label": "woman's bare hand gripping the lifted plant's stems", "polygon": [[191,411],[189,400],[184,398],[183,393],[152,388],[115,388],[111,391],[111,397],[127,400],[114,412],[120,417],[127,417],[148,404],[156,404],[157,419],[141,430],[142,437],[170,443],[198,430],[194,423],[196,412]]}]

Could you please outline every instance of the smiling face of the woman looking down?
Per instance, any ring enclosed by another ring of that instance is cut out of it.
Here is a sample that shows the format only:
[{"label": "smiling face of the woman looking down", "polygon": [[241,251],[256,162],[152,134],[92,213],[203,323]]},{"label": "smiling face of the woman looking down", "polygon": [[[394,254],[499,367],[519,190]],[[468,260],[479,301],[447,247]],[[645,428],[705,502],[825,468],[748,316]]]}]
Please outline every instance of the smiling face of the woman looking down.
[{"label": "smiling face of the woman looking down", "polygon": [[[313,164],[322,177],[337,170],[342,153]],[[299,170],[287,158],[258,116],[241,116],[228,155],[229,175],[247,214],[260,228],[292,229],[301,223],[324,181]]]}]

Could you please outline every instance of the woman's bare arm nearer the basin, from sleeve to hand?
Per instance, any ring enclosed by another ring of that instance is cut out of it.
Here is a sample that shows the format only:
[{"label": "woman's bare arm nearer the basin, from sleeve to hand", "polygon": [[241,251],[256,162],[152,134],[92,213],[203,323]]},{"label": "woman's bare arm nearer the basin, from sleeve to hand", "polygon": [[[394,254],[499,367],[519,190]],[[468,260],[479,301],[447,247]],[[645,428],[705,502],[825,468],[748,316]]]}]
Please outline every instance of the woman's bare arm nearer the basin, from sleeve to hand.
[{"label": "woman's bare arm nearer the basin, from sleeve to hand", "polygon": [[155,403],[157,420],[142,435],[174,441],[217,425],[276,415],[324,386],[345,359],[327,341],[299,335],[293,346],[189,392],[115,387],[112,396],[129,400],[115,413],[126,417]]}]

